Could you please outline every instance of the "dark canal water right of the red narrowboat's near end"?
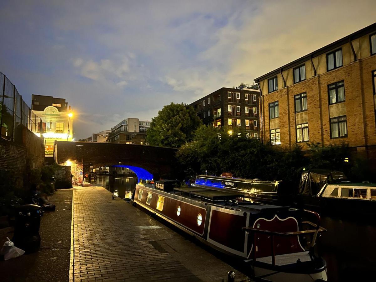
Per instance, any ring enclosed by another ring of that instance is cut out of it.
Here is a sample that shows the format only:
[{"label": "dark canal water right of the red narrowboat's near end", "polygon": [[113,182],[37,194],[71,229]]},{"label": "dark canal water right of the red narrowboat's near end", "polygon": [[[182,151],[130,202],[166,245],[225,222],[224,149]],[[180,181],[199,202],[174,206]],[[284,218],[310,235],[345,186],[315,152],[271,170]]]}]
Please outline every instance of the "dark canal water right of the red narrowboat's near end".
[{"label": "dark canal water right of the red narrowboat's near end", "polygon": [[327,262],[329,281],[367,281],[376,265],[376,224],[373,217],[323,216],[327,232],[319,252]]}]

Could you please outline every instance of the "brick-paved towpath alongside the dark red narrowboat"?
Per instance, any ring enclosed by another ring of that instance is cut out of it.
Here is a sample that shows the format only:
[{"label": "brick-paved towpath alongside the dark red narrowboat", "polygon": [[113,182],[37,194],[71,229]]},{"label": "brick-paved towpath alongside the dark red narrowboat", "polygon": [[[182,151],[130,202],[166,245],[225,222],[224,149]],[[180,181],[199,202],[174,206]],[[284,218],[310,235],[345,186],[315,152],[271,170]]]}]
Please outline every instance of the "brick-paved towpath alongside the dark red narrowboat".
[{"label": "brick-paved towpath alongside the dark red narrowboat", "polygon": [[229,265],[111,195],[74,189],[70,280],[226,280]]}]

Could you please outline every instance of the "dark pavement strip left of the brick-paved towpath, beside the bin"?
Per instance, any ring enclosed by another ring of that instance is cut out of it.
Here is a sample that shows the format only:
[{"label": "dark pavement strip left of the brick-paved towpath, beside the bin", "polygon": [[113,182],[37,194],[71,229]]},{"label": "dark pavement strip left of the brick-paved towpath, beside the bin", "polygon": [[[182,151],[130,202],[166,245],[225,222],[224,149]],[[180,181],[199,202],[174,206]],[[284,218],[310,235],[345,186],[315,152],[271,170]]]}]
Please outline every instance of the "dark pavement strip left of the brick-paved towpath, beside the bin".
[{"label": "dark pavement strip left of the brick-paved towpath, beside the bin", "polygon": [[[58,190],[49,199],[56,211],[45,212],[39,233],[41,248],[38,252],[8,261],[0,261],[1,281],[68,281],[71,237],[72,189]],[[13,228],[2,234],[13,237]]]}]

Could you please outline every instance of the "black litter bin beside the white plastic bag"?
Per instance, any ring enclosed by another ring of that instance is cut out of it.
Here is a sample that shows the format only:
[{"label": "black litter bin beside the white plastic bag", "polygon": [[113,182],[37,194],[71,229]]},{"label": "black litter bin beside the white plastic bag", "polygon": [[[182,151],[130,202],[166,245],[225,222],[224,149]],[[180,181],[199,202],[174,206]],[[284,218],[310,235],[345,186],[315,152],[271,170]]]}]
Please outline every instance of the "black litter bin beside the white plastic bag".
[{"label": "black litter bin beside the white plastic bag", "polygon": [[27,253],[36,252],[41,246],[39,226],[43,211],[37,205],[23,205],[17,208],[14,227],[14,246]]}]

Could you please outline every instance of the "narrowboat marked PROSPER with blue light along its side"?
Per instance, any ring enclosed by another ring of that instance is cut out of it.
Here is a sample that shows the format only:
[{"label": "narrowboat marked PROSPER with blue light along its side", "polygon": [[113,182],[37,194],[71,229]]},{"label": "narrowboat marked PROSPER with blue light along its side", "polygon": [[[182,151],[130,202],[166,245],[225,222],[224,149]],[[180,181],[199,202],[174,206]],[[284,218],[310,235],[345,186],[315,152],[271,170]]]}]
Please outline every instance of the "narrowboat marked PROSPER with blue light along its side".
[{"label": "narrowboat marked PROSPER with blue light along its side", "polygon": [[[224,175],[224,174],[222,174]],[[193,186],[211,189],[224,189],[244,194],[248,199],[261,203],[278,204],[283,202],[285,191],[280,189],[282,181],[262,181],[260,179],[244,179],[226,176],[199,175]]]}]

